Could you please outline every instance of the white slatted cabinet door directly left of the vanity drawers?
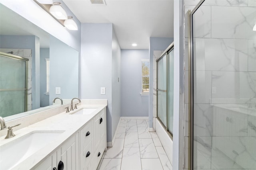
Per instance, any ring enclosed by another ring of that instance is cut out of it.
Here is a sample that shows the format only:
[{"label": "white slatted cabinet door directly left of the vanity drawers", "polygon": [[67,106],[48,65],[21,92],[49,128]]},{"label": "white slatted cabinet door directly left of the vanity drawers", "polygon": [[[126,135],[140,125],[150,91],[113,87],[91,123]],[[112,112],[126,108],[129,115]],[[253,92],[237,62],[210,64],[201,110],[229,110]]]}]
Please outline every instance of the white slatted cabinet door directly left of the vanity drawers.
[{"label": "white slatted cabinet door directly left of the vanity drawers", "polygon": [[57,151],[57,160],[64,163],[64,170],[79,169],[79,134],[72,136]]}]

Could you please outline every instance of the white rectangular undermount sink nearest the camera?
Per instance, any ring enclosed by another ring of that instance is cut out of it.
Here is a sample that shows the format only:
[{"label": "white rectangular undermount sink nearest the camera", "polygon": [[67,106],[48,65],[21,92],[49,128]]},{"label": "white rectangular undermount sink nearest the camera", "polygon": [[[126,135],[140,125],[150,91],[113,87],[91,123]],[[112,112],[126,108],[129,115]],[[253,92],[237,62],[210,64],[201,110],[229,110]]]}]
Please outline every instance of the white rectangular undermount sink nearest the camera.
[{"label": "white rectangular undermount sink nearest the camera", "polygon": [[15,167],[52,142],[53,139],[63,132],[64,131],[32,131],[2,145],[0,147],[0,169],[9,170]]}]

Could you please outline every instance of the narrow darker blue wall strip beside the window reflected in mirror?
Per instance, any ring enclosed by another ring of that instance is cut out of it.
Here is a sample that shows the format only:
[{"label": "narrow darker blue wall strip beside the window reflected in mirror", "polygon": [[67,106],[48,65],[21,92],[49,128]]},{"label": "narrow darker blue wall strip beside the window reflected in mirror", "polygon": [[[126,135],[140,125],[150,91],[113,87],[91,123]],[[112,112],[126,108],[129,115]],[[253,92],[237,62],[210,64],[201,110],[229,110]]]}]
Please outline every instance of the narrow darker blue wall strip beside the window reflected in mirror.
[{"label": "narrow darker blue wall strip beside the window reflected in mirror", "polygon": [[49,106],[49,95],[46,93],[46,60],[50,58],[50,49],[40,48],[40,107]]}]

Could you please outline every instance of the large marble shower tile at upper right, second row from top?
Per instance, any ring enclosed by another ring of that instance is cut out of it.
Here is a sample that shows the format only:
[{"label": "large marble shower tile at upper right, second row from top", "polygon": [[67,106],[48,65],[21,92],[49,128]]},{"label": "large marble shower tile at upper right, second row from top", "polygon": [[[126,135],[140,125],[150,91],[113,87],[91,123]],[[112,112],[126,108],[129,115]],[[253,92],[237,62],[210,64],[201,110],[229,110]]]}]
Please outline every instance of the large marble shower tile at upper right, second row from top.
[{"label": "large marble shower tile at upper right, second row from top", "polygon": [[255,8],[212,6],[211,9],[212,38],[256,39],[252,30],[255,24]]}]

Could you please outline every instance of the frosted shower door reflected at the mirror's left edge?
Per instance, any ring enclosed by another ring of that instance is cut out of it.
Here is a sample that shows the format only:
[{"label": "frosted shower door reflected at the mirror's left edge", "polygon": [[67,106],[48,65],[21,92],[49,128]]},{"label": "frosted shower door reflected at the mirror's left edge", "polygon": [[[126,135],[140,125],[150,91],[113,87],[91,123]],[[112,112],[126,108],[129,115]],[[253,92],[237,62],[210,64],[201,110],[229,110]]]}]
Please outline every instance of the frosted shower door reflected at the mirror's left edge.
[{"label": "frosted shower door reflected at the mirror's left edge", "polygon": [[0,116],[26,111],[28,59],[0,55]]}]

